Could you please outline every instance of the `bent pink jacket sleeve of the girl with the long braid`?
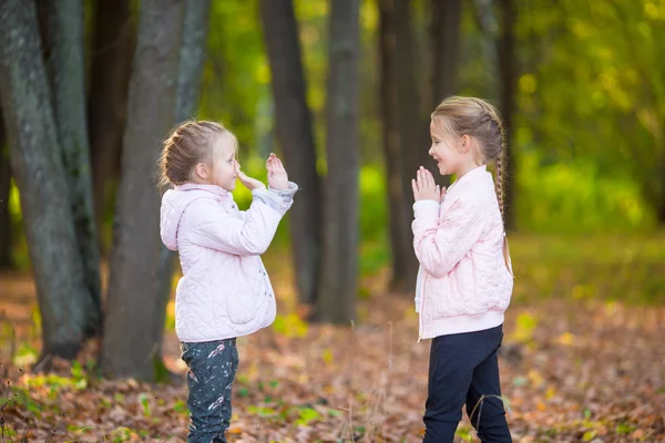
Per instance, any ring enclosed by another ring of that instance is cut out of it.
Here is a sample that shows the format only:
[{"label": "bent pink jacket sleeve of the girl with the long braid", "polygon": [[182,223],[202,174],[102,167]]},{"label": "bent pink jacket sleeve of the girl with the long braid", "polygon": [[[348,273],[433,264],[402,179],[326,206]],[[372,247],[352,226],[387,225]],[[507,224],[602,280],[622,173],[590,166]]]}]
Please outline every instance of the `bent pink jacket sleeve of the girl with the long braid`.
[{"label": "bent pink jacket sleeve of the girl with the long braid", "polygon": [[440,278],[450,272],[480,239],[483,231],[481,207],[471,199],[458,199],[446,209],[421,203],[413,205],[413,249],[424,270]]}]

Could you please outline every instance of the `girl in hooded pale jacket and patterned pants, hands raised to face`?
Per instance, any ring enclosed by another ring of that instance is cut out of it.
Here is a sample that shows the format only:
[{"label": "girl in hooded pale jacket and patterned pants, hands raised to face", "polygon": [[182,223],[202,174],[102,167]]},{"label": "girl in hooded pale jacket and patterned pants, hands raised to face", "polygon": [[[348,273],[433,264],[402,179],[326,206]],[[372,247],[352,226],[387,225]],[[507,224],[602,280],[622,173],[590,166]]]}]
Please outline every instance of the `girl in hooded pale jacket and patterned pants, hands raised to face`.
[{"label": "girl in hooded pale jacket and patterned pants, hands raised to face", "polygon": [[[290,208],[295,183],[282,162],[266,162],[268,188],[239,169],[237,141],[214,122],[186,122],[164,143],[162,241],[177,250],[183,277],[175,293],[175,332],[188,367],[187,442],[226,442],[231,389],[238,365],[236,337],[269,326],[275,293],[260,260]],[[236,178],[252,189],[249,209],[236,206]]]}]

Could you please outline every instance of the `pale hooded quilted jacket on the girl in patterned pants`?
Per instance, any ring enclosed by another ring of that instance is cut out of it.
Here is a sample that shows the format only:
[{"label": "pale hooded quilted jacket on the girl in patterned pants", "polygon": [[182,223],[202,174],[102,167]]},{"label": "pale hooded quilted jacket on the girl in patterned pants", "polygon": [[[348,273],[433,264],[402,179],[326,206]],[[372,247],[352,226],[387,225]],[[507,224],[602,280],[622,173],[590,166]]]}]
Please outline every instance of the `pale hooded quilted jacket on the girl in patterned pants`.
[{"label": "pale hooded quilted jacket on the girl in patterned pants", "polygon": [[201,342],[246,336],[275,320],[275,293],[259,255],[297,190],[255,189],[246,212],[227,190],[185,184],[162,197],[160,234],[180,253],[175,332]]}]

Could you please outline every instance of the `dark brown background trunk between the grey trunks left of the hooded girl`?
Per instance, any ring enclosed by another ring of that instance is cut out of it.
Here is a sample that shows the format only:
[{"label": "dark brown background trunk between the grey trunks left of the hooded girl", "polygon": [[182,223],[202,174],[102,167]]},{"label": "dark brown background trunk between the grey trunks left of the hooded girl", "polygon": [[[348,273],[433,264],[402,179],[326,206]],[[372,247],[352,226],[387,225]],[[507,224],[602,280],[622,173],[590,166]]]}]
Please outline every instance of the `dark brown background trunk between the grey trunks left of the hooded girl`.
[{"label": "dark brown background trunk between the grey trunks left of the hooded girl", "polygon": [[130,13],[130,0],[99,0],[94,20],[88,123],[94,216],[101,228],[106,187],[110,179],[117,178],[136,27]]}]

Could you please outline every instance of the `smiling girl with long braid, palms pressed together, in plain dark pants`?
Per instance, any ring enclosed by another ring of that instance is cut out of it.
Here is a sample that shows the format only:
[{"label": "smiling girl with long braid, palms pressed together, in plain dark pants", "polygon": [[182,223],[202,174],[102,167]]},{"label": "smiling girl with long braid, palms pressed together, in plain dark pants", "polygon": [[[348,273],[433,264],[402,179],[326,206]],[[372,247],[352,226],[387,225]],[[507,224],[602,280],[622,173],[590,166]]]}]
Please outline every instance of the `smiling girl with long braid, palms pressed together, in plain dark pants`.
[{"label": "smiling girl with long braid, palms pressed together, in plain dark pants", "polygon": [[452,442],[464,404],[481,441],[511,442],[497,361],[513,288],[502,123],[491,104],[451,96],[432,113],[430,133],[439,173],[457,181],[440,189],[422,166],[412,181],[419,341],[433,339],[423,442]]}]

